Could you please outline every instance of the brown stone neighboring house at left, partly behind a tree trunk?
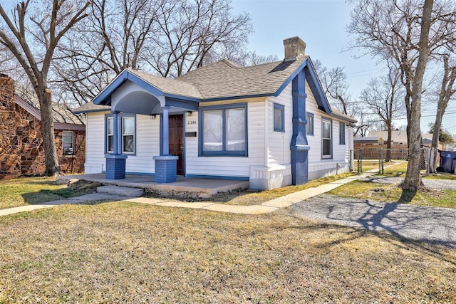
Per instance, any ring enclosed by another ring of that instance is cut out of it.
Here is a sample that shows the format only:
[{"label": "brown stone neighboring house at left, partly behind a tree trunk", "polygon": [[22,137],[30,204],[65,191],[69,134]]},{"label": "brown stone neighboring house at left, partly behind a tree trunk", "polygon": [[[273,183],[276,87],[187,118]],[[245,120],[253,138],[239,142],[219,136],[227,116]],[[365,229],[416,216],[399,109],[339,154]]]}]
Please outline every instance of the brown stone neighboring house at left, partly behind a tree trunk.
[{"label": "brown stone neighboring house at left, partly behind a tree trunk", "polygon": [[[38,100],[4,74],[0,74],[0,120],[0,179],[44,174]],[[53,122],[62,172],[82,173],[86,162],[83,118],[55,103]]]}]

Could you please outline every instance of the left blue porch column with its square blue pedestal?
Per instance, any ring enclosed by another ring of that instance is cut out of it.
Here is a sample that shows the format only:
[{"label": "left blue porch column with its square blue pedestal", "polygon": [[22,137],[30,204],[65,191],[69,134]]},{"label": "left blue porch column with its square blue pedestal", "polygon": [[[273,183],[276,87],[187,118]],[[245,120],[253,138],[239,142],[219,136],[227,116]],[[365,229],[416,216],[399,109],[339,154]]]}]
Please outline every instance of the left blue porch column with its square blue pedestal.
[{"label": "left blue porch column with its square blue pedestal", "polygon": [[106,179],[125,179],[127,155],[119,154],[118,114],[113,111],[113,154],[106,154]]}]

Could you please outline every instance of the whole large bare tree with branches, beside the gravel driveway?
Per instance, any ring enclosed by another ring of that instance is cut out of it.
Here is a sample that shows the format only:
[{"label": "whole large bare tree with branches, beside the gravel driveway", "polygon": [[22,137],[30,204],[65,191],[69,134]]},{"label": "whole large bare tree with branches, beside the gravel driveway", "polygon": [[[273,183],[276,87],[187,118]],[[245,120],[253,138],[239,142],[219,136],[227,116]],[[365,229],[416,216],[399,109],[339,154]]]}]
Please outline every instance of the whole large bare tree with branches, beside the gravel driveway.
[{"label": "whole large bare tree with branches, beside the gravel driveway", "polygon": [[[405,87],[408,118],[409,163],[403,182],[403,199],[411,199],[422,186],[420,178],[420,110],[423,77],[429,56],[454,43],[455,3],[452,1],[359,0],[351,13],[348,32],[355,36],[353,48],[400,68]],[[411,195],[409,195],[411,194]]]}]

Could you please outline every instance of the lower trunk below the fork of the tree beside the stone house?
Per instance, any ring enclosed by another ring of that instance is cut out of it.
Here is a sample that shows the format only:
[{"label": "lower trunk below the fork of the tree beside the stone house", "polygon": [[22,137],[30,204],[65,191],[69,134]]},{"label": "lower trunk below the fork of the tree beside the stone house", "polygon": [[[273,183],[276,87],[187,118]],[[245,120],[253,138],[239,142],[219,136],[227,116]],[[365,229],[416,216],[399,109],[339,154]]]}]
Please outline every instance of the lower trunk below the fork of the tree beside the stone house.
[{"label": "lower trunk below the fork of the tree beside the stone house", "polygon": [[46,160],[45,174],[50,177],[60,172],[54,138],[54,125],[52,115],[51,90],[48,88],[40,90],[38,94],[41,111],[41,132],[43,133],[44,157]]}]

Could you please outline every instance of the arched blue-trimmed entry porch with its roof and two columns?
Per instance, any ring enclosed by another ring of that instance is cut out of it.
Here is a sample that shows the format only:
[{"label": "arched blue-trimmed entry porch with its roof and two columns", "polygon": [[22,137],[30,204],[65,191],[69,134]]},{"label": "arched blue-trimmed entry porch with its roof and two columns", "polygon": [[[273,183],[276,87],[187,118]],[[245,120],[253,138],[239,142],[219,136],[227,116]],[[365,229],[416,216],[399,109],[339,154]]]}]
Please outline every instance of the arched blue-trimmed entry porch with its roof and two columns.
[{"label": "arched blue-trimmed entry porch with its roof and two columns", "polygon": [[[199,98],[192,94],[191,96],[170,94],[169,81],[152,75],[143,75],[138,71],[124,70],[93,100],[95,105],[110,106],[112,113],[105,127],[105,132],[108,134],[105,148],[105,179],[126,179],[128,158],[136,155],[133,148],[130,150],[126,148],[127,137],[122,127],[125,115],[148,115],[152,120],[157,116],[160,117],[160,153],[152,154],[150,159],[151,162],[155,162],[155,172],[151,172],[154,174],[154,182],[172,183],[177,181],[178,172],[185,175],[182,169],[185,141],[180,138],[177,142],[170,142],[170,138],[183,137],[183,122],[181,119],[180,130],[176,132],[175,125],[170,125],[170,117],[176,115],[183,117],[186,113],[197,111]],[[186,88],[185,91],[192,92],[190,89]],[[132,121],[130,130],[135,130],[136,120]],[[130,131],[130,133],[135,132]],[[136,136],[130,137],[132,138],[128,140],[132,143],[131,147],[136,146],[138,140],[143,140]],[[170,147],[174,150],[171,151]]]}]

